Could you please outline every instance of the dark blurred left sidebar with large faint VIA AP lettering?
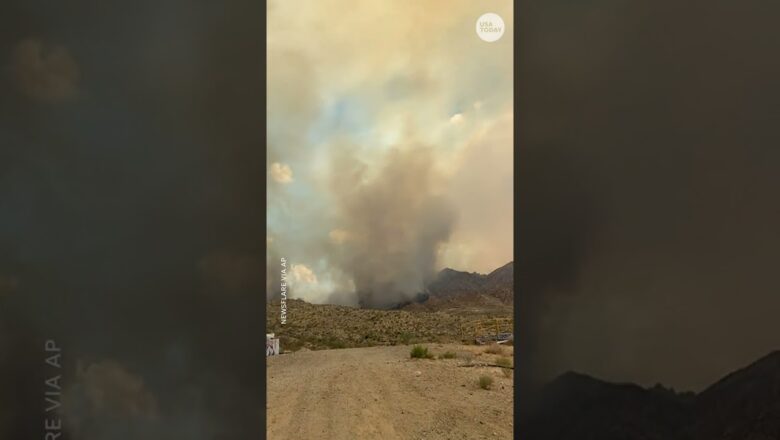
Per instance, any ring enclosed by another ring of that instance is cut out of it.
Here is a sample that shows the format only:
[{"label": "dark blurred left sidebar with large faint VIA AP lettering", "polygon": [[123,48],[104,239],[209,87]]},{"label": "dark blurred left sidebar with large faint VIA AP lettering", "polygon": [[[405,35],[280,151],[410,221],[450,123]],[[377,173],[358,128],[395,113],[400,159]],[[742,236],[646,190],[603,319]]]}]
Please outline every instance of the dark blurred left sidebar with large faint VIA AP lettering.
[{"label": "dark blurred left sidebar with large faint VIA AP lettering", "polygon": [[260,3],[3,2],[0,439],[262,436]]}]

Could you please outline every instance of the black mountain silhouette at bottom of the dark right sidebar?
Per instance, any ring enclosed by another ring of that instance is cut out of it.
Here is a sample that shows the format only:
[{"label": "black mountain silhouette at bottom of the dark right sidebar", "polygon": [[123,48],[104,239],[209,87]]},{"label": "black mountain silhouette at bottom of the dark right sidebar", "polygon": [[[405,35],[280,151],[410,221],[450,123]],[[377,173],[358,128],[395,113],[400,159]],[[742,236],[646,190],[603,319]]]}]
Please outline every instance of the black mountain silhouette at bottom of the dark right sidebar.
[{"label": "black mountain silhouette at bottom of the dark right sidebar", "polygon": [[780,352],[699,395],[566,373],[544,387],[518,429],[527,440],[777,440]]}]

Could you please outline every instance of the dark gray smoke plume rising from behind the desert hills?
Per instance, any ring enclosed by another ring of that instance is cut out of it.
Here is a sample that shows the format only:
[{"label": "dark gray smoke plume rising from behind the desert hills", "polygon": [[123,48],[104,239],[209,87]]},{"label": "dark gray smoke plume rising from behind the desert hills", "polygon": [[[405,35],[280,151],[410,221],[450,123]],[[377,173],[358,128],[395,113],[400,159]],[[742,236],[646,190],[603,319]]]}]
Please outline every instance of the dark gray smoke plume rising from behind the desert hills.
[{"label": "dark gray smoke plume rising from behind the desert hills", "polygon": [[434,151],[423,145],[393,149],[375,176],[350,154],[333,158],[339,269],[354,282],[363,307],[388,307],[424,290],[435,274],[439,246],[455,222],[450,203],[435,192]]}]

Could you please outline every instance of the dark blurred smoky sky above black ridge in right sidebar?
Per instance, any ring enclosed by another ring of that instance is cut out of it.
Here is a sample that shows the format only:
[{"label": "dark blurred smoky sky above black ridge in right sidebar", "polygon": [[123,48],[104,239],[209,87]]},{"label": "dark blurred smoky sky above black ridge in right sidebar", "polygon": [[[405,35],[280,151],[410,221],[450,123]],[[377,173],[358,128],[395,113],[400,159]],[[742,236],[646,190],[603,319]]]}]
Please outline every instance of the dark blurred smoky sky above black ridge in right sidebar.
[{"label": "dark blurred smoky sky above black ridge in right sidebar", "polygon": [[780,348],[777,5],[522,5],[521,374],[698,391]]}]

